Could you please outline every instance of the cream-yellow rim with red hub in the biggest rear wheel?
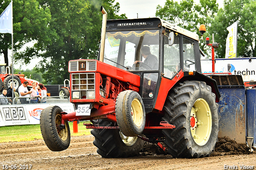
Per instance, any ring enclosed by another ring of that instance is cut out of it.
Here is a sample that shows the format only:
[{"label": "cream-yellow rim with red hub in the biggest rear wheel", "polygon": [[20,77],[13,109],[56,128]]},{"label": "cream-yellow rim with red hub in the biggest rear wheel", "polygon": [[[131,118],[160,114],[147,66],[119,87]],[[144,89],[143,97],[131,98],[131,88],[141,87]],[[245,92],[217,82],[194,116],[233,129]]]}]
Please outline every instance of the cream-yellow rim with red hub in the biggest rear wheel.
[{"label": "cream-yellow rim with red hub in the biggest rear wheel", "polygon": [[206,100],[197,99],[190,112],[190,131],[196,144],[203,146],[212,131],[212,113]]}]

